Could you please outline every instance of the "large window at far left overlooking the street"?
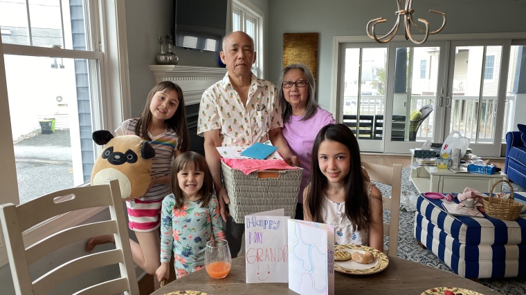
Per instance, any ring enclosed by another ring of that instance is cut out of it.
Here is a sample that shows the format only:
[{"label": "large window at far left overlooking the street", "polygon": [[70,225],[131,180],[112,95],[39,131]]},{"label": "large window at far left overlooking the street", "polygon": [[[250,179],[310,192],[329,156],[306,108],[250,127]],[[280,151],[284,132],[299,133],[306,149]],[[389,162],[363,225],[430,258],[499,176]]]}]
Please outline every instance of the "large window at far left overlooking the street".
[{"label": "large window at far left overlooking the street", "polygon": [[10,10],[0,26],[11,32],[2,42],[19,202],[89,182],[103,55],[89,42],[86,7],[0,0],[0,11]]}]

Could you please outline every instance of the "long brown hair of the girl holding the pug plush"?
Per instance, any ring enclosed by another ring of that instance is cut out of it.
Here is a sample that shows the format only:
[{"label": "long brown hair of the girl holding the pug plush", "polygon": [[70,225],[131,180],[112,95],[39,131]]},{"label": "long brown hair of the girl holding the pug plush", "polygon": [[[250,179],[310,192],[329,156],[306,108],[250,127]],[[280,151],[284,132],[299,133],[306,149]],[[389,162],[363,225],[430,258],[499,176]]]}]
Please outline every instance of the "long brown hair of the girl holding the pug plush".
[{"label": "long brown hair of the girl holding the pug plush", "polygon": [[157,91],[167,93],[172,90],[177,92],[177,97],[179,98],[179,106],[177,106],[174,115],[170,117],[170,119],[165,120],[165,123],[167,124],[167,126],[170,126],[170,128],[172,128],[177,133],[177,135],[179,135],[179,149],[182,153],[184,153],[185,151],[188,151],[188,148],[190,146],[190,135],[188,134],[188,126],[186,124],[186,110],[185,100],[183,97],[183,90],[179,85],[174,84],[174,82],[159,82],[158,84],[156,84],[156,86],[154,86],[154,88],[152,88],[151,91],[149,91],[143,113],[138,118],[135,134],[139,137],[144,138],[145,140],[152,140],[152,138],[149,138],[148,136],[148,126],[149,123],[152,122],[152,111],[149,111],[149,104],[152,103],[152,98],[154,97]]}]

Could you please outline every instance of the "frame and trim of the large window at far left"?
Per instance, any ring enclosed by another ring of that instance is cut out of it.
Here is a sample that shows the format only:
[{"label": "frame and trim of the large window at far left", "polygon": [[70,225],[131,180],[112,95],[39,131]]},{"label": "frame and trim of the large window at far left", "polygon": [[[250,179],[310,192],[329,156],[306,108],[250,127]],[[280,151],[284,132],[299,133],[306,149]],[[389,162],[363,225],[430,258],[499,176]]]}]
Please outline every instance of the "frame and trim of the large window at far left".
[{"label": "frame and trim of the large window at far left", "polygon": [[[129,72],[127,62],[127,38],[125,34],[125,0],[85,0],[89,10],[90,33],[88,42],[92,51],[65,50],[59,48],[42,48],[36,46],[21,46],[16,44],[3,44],[0,35],[0,96],[7,97],[6,69],[3,56],[6,54],[30,56],[57,56],[70,58],[98,59],[100,73],[100,104],[93,106],[99,111],[93,112],[93,129],[114,130],[124,117],[131,116],[131,102],[129,101]],[[111,21],[108,21],[111,20]],[[111,40],[111,42],[109,41]],[[114,62],[118,61],[118,62]],[[0,117],[6,128],[1,129],[0,135],[10,138],[11,123],[8,99],[0,100]],[[18,204],[18,185],[15,166],[15,153],[12,142],[4,140],[1,144],[3,157],[0,160],[4,173],[0,185],[4,193],[0,197],[0,204],[12,202]],[[100,151],[100,146],[95,146],[94,153]],[[95,155],[94,155],[95,156]],[[89,184],[83,184],[89,185]],[[60,218],[49,220],[38,227],[28,229],[24,238],[47,236],[54,227],[65,225],[78,225],[80,222],[95,216],[101,209],[89,209],[80,213],[68,213]],[[0,231],[0,267],[8,264],[3,234]]]}]

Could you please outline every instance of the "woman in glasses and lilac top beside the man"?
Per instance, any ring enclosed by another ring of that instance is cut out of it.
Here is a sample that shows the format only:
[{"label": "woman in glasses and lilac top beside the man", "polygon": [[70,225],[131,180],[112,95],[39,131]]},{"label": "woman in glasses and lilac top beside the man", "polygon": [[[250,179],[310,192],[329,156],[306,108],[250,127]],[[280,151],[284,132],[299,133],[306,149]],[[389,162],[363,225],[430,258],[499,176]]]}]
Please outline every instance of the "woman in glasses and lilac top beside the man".
[{"label": "woman in glasses and lilac top beside the man", "polygon": [[293,162],[304,169],[296,219],[303,219],[303,189],[309,183],[311,174],[311,154],[314,139],[320,129],[335,123],[328,111],[316,102],[316,82],[309,67],[305,64],[291,64],[283,68],[278,89],[278,99],[283,111],[283,137],[287,140],[291,153],[296,156]]}]

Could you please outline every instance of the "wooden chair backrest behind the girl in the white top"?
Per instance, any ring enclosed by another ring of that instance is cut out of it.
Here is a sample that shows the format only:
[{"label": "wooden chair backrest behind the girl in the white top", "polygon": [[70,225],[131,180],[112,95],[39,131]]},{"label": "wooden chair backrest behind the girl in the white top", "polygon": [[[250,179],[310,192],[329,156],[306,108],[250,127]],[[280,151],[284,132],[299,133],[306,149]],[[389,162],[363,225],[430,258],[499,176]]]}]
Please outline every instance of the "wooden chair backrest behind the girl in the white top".
[{"label": "wooden chair backrest behind the girl in the white top", "polygon": [[389,237],[389,247],[383,251],[387,251],[388,256],[397,257],[402,165],[383,166],[370,162],[362,162],[362,165],[372,181],[391,186],[390,198],[382,196],[383,209],[389,210],[391,216],[389,223],[383,220],[383,234]]}]

